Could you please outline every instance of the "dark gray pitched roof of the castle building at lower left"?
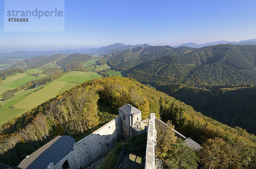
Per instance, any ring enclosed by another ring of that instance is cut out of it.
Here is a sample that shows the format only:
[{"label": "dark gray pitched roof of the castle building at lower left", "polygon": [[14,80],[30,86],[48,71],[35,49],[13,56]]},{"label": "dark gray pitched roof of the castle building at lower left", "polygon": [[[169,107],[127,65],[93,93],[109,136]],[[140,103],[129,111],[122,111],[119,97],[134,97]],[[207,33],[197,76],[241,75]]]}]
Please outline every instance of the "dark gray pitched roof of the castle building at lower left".
[{"label": "dark gray pitched roof of the castle building at lower left", "polygon": [[22,169],[45,169],[49,163],[56,164],[74,147],[75,139],[58,135],[40,149],[25,158],[18,167]]}]

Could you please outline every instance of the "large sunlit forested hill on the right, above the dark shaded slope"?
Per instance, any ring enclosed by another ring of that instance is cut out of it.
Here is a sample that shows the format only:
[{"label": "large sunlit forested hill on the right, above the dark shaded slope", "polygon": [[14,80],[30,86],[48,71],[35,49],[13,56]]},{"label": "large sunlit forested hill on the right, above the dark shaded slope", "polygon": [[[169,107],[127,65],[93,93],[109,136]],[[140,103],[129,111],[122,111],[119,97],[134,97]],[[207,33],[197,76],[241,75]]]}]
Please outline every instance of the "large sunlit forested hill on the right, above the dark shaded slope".
[{"label": "large sunlit forested hill on the right, above the dark shaded slope", "polygon": [[128,77],[149,84],[256,84],[256,45],[216,45],[169,54],[131,68]]}]

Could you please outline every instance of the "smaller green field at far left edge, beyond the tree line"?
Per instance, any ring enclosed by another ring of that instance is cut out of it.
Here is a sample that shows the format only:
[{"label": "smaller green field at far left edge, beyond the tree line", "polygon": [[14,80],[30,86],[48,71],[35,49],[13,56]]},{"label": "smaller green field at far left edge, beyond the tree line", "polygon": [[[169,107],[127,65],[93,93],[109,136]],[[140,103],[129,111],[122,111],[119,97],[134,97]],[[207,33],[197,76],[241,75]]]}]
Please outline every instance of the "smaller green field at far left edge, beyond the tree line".
[{"label": "smaller green field at far left edge, beyond the tree line", "polygon": [[39,78],[42,78],[45,76],[47,76],[47,75],[41,74],[38,77],[36,77],[36,76],[28,75],[26,73],[17,73],[15,75],[8,76],[5,80],[0,82],[0,99],[2,99],[2,94],[6,90],[15,89],[17,87],[25,85],[26,82],[29,82],[29,81],[35,80],[35,79],[39,79]]}]

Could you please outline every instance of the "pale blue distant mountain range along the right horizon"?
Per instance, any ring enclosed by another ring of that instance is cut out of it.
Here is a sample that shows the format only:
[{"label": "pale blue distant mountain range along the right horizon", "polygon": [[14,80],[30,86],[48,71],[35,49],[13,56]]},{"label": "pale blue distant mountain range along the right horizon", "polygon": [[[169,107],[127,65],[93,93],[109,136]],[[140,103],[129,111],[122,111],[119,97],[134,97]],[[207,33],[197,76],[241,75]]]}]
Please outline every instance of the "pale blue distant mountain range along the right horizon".
[{"label": "pale blue distant mountain range along the right horizon", "polygon": [[210,45],[220,45],[220,44],[230,44],[230,45],[256,45],[256,39],[248,39],[248,40],[241,40],[239,42],[229,42],[225,40],[217,41],[217,42],[208,42],[208,43],[202,43],[202,44],[196,44],[194,42],[184,43],[177,46],[172,46],[174,48],[178,48],[180,46],[187,46],[190,48],[202,48],[204,46],[210,46]]}]

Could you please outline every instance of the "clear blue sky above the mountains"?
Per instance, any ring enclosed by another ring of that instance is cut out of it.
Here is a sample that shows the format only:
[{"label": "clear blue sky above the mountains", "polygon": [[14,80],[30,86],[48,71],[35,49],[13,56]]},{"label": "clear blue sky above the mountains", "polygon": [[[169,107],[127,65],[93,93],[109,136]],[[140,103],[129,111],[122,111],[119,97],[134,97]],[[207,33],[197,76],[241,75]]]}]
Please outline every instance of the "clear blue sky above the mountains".
[{"label": "clear blue sky above the mountains", "polygon": [[256,38],[255,0],[65,0],[64,32],[5,32],[0,3],[0,51]]}]

